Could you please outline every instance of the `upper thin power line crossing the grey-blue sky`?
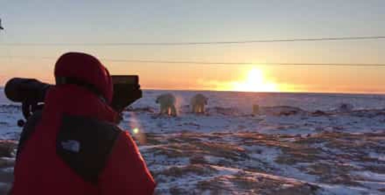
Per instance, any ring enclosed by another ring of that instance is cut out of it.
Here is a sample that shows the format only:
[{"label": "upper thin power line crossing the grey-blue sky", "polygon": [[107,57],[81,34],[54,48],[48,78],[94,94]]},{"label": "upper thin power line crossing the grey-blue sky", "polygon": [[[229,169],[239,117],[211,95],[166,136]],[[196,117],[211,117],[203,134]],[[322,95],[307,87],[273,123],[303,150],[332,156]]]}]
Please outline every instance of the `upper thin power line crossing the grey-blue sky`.
[{"label": "upper thin power line crossing the grey-blue sky", "polygon": [[172,46],[172,45],[225,45],[225,44],[275,43],[275,42],[380,40],[380,39],[385,39],[385,36],[292,38],[292,39],[218,41],[218,42],[2,43],[0,44],[0,46]]}]

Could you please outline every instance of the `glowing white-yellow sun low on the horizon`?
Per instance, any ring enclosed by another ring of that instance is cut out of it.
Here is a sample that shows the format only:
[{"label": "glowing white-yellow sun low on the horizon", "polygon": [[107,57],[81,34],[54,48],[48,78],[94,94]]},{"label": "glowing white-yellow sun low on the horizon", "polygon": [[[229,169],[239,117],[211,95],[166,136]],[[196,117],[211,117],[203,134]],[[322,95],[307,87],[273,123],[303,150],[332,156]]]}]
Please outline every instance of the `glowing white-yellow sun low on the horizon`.
[{"label": "glowing white-yellow sun low on the horizon", "polygon": [[278,92],[278,85],[264,77],[259,68],[252,68],[241,82],[234,82],[233,89],[241,92]]}]

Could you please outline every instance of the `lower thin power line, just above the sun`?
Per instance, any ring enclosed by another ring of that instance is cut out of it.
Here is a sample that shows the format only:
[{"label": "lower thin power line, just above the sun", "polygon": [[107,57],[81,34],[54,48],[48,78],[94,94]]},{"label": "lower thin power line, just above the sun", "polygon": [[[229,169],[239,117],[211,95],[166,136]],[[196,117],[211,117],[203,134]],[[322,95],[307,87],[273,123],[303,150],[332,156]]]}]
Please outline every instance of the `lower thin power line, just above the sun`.
[{"label": "lower thin power line, just above the sun", "polygon": [[[57,60],[55,57],[34,57],[34,56],[0,56],[0,58],[21,58]],[[137,60],[137,59],[111,59],[100,58],[106,62],[128,62],[128,63],[155,63],[155,64],[196,64],[196,65],[278,65],[278,66],[345,66],[345,67],[385,67],[385,63],[282,63],[282,62],[207,62],[207,61],[171,61],[171,60]]]}]

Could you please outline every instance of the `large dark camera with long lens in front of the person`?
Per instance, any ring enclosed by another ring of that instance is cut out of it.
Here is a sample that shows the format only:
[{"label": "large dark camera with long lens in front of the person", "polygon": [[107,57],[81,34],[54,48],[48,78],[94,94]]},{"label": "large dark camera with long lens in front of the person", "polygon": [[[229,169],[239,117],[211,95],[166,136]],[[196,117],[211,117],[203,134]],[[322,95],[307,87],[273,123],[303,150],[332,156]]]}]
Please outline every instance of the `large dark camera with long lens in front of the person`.
[{"label": "large dark camera with long lens in front of the person", "polygon": [[[112,75],[114,84],[114,95],[111,107],[122,112],[124,108],[142,97],[142,90],[137,75]],[[44,106],[44,97],[48,89],[52,87],[48,83],[40,82],[33,78],[12,78],[5,85],[5,95],[13,102],[22,103],[22,112],[25,119],[28,119],[37,110]],[[23,126],[22,121],[18,121]]]}]

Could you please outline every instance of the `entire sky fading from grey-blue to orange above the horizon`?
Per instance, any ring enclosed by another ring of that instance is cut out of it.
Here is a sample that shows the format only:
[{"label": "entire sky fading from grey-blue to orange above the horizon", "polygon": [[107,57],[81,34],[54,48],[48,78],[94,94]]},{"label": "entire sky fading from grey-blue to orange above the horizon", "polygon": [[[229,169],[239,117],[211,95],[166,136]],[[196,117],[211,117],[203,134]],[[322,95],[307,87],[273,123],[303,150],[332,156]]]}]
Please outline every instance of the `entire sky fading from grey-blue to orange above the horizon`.
[{"label": "entire sky fading from grey-blue to orange above the horizon", "polygon": [[[383,0],[0,0],[0,86],[12,77],[53,82],[65,52],[100,58],[142,88],[385,93],[385,67],[264,63],[385,63],[385,40],[232,45],[105,46],[7,43],[216,42],[385,35]],[[116,60],[241,62],[134,63]]]}]

